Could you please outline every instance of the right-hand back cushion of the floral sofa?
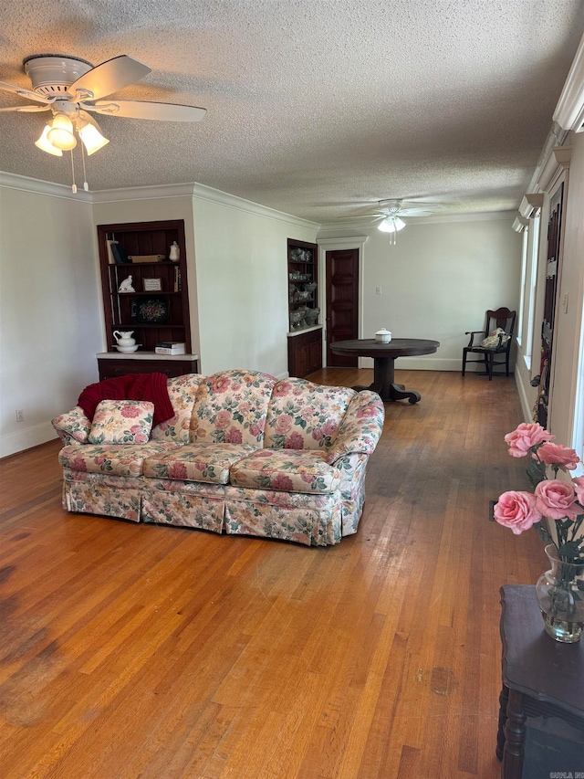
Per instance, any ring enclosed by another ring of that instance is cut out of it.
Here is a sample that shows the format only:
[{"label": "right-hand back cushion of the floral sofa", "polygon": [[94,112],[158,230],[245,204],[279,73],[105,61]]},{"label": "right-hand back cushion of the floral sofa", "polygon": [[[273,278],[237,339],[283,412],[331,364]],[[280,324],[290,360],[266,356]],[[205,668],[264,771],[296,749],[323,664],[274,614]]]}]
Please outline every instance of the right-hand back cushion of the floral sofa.
[{"label": "right-hand back cushion of the floral sofa", "polygon": [[330,446],[355,390],[312,384],[306,379],[277,382],[267,410],[264,446],[319,449]]}]

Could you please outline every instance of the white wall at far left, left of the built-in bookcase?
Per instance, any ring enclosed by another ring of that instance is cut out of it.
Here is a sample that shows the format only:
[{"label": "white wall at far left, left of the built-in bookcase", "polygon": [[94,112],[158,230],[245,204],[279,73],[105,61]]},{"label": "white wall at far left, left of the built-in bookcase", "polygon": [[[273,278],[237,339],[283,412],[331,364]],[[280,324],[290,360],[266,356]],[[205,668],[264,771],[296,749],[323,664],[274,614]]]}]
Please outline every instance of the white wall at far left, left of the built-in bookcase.
[{"label": "white wall at far left, left of the built-in bookcase", "polygon": [[90,203],[67,187],[18,186],[2,174],[0,457],[55,437],[51,418],[98,380],[103,329]]}]

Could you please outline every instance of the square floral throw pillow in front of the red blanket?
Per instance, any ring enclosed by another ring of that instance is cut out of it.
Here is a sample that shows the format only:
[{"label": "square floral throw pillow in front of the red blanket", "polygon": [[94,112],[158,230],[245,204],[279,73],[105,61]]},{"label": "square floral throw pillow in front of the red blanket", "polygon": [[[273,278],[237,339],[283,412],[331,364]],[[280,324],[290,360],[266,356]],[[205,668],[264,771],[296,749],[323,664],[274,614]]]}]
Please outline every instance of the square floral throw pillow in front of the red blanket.
[{"label": "square floral throw pillow in front of the red blanket", "polygon": [[147,400],[102,400],[93,415],[90,444],[145,444],[154,404]]}]

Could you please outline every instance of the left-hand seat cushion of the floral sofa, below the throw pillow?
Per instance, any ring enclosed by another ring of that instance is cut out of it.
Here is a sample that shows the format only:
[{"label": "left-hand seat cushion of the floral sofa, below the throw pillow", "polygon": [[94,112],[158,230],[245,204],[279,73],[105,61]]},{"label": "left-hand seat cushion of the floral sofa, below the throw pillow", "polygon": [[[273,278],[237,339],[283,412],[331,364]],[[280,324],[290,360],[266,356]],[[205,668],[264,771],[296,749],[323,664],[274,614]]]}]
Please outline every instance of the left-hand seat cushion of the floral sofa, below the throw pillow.
[{"label": "left-hand seat cushion of the floral sofa, below the throw pillow", "polygon": [[147,444],[75,444],[63,447],[58,461],[63,468],[116,476],[141,476],[144,459],[177,444],[149,441]]}]

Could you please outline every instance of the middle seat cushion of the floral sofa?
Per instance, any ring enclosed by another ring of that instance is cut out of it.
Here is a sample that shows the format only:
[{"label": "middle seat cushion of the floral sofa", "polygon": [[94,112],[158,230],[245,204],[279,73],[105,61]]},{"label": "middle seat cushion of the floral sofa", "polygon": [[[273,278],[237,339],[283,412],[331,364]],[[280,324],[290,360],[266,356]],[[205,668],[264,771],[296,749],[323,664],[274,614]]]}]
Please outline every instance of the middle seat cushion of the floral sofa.
[{"label": "middle seat cushion of the floral sofa", "polygon": [[187,444],[144,462],[144,476],[228,484],[229,469],[255,450],[250,444]]}]

